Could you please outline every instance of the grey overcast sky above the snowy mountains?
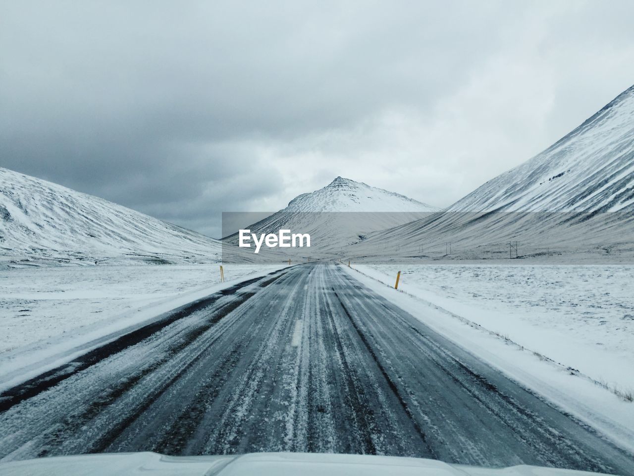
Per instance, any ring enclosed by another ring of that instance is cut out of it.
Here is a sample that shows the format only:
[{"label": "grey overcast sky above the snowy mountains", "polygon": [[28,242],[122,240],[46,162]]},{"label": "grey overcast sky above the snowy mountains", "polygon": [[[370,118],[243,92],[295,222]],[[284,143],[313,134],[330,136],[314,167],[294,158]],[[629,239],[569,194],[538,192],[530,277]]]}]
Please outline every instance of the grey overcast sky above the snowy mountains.
[{"label": "grey overcast sky above the snowy mountains", "polygon": [[631,1],[0,2],[0,166],[219,237],[344,176],[448,206],[634,83]]}]

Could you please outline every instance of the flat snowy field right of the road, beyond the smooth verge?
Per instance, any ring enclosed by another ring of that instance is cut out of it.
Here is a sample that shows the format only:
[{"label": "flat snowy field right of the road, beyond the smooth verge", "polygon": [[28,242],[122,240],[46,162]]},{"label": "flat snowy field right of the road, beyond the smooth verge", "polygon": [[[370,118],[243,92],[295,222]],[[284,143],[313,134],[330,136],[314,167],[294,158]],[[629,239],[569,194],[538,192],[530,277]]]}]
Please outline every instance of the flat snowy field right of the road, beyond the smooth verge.
[{"label": "flat snowy field right of the road, beyond the smooth verge", "polygon": [[634,266],[358,265],[365,274],[572,367],[634,391]]}]

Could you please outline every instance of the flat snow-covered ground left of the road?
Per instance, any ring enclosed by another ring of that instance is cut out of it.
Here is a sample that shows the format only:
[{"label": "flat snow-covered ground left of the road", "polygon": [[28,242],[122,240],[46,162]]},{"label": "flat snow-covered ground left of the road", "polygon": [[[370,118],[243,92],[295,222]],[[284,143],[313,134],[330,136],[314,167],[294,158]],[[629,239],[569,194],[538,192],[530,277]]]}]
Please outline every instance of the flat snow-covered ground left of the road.
[{"label": "flat snow-covered ground left of the road", "polygon": [[0,380],[280,265],[40,267],[0,270]]}]

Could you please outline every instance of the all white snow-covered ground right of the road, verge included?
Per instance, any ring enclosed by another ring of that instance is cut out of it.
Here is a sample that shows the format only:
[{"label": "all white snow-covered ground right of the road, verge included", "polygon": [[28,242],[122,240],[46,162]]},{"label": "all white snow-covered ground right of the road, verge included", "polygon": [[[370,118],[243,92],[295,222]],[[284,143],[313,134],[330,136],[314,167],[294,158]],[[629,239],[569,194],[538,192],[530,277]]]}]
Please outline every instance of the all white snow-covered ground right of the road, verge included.
[{"label": "all white snow-covered ground right of the road, verge included", "polygon": [[634,402],[628,399],[634,390],[629,317],[634,267],[353,263],[342,268],[524,388],[634,451]]}]

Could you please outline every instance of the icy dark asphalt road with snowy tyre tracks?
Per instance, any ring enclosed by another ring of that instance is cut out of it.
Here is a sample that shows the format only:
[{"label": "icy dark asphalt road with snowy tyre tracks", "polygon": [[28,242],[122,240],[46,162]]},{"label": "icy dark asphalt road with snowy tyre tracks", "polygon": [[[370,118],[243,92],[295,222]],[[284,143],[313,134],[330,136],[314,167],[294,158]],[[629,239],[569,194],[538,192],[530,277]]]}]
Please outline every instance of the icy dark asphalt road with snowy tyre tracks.
[{"label": "icy dark asphalt road with snowy tyre tracks", "polygon": [[365,288],[307,263],[0,395],[0,458],[387,454],[634,474],[634,459]]}]

